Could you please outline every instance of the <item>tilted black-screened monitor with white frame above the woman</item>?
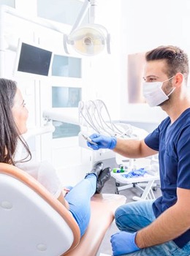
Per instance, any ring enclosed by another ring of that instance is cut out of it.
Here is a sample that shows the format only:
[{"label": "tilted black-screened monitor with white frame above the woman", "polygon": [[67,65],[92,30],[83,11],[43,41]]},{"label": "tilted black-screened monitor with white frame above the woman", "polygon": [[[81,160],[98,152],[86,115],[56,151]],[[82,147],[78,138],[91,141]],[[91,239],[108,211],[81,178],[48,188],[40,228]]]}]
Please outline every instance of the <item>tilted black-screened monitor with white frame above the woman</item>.
[{"label": "tilted black-screened monitor with white frame above the woman", "polygon": [[39,45],[34,45],[19,40],[15,64],[15,75],[18,72],[23,72],[47,76],[50,73],[52,59],[52,51],[41,48]]}]

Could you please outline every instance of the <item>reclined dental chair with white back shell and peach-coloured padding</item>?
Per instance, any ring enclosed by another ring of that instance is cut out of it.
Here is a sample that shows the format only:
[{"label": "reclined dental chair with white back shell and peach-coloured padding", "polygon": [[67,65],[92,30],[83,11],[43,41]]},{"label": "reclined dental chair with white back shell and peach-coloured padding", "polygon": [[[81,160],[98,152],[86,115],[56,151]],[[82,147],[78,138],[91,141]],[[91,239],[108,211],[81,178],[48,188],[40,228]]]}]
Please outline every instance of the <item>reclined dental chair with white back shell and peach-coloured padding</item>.
[{"label": "reclined dental chair with white back shell and peach-coloured padding", "polygon": [[1,256],[95,256],[123,195],[91,200],[91,220],[83,238],[72,214],[18,167],[0,163]]}]

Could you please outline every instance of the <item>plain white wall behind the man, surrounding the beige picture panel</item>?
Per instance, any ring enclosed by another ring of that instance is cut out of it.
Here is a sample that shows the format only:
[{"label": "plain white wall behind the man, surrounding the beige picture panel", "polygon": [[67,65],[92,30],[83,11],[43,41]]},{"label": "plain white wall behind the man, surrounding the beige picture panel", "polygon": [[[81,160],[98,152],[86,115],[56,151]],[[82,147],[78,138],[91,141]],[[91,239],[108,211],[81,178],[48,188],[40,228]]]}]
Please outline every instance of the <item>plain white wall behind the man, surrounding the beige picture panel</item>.
[{"label": "plain white wall behind the man, surrounding the beige picture panel", "polygon": [[189,52],[189,11],[189,0],[122,0],[121,119],[158,122],[164,118],[160,108],[127,103],[127,55],[159,45],[177,45]]}]

